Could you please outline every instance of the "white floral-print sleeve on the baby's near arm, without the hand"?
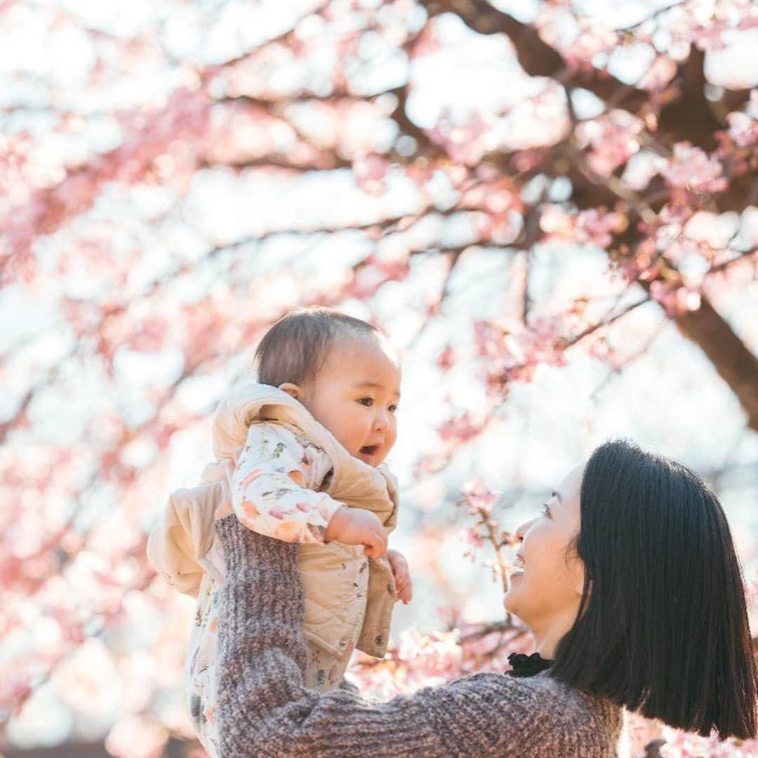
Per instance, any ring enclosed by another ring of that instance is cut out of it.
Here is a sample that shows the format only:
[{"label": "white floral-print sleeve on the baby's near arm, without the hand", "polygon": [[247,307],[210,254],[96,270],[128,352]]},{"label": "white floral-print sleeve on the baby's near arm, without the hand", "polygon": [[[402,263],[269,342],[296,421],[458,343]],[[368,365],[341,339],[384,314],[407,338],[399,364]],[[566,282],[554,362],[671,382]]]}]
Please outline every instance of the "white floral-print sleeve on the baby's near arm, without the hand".
[{"label": "white floral-print sleeve on the baby's near arm, without the hand", "polygon": [[[315,468],[302,435],[283,424],[251,424],[231,481],[240,522],[284,542],[323,542],[330,518],[342,506],[316,492]],[[325,453],[323,454],[325,455]]]}]

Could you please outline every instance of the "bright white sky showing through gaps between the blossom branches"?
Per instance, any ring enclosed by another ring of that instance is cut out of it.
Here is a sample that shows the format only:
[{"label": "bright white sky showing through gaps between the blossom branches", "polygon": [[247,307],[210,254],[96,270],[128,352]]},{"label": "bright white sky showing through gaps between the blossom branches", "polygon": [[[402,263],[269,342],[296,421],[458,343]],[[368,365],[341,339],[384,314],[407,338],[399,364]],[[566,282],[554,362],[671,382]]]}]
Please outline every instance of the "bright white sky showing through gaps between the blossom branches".
[{"label": "bright white sky showing through gaps between the blossom branches", "polygon": [[[6,36],[0,47],[0,106],[16,102],[47,105],[45,87],[40,84],[44,81],[52,83],[58,107],[85,112],[113,105],[129,107],[140,102],[160,101],[173,89],[173,75],[156,71],[150,61],[145,61],[127,76],[84,91],[82,84],[93,61],[89,40],[74,24],[64,24],[55,39],[50,40],[36,14],[36,9],[45,5],[58,5],[72,16],[124,36],[138,33],[164,8],[149,0],[126,4],[112,0],[28,4],[22,11],[24,22],[13,35]],[[528,18],[536,4],[513,0],[496,5],[515,8],[521,17]],[[651,9],[667,4],[615,3],[612,11],[604,0],[585,0],[581,5],[601,16],[611,13],[612,23],[622,27],[640,20]],[[183,11],[175,11],[167,17],[164,28],[167,45],[177,55],[198,55],[205,61],[219,61],[236,55],[258,39],[288,28],[295,16],[293,9],[300,4],[283,0],[257,5],[230,2],[227,11],[219,12],[218,23],[211,33],[199,15],[200,7],[187,5]],[[417,19],[420,21],[423,19]],[[418,86],[414,86],[409,101],[409,114],[418,124],[434,124],[445,108],[452,108],[455,117],[456,109],[465,110],[464,103],[468,107],[491,110],[506,108],[534,88],[534,82],[519,76],[506,40],[468,33],[452,17],[440,20],[439,31],[448,45],[445,52],[429,55],[411,71]],[[318,34],[319,30],[315,28],[314,33]],[[729,83],[733,77],[752,76],[758,80],[756,35],[758,30],[741,33],[728,49],[709,52],[706,60],[709,77],[718,83]],[[356,73],[356,87],[371,92],[381,89],[387,81],[402,82],[402,58],[384,49],[377,39],[366,44],[373,64]],[[638,52],[639,58],[619,56],[613,61],[614,73],[620,78],[633,79],[646,55],[642,50]],[[324,51],[321,64],[323,70],[327,70],[328,49]],[[8,76],[18,70],[30,75],[23,84]],[[308,75],[315,77],[318,73],[316,66]],[[282,72],[280,75],[285,84],[302,84],[297,76],[306,74]],[[291,80],[287,80],[287,76],[291,76]],[[45,114],[27,114],[20,121],[0,118],[10,130],[30,128],[39,133],[49,130]],[[543,127],[554,128],[555,124],[546,121]],[[534,124],[525,126],[518,117],[506,127],[509,139],[513,140],[534,137],[533,129]],[[380,137],[387,135],[377,136],[377,139]],[[54,165],[61,152],[86,156],[92,149],[111,149],[119,139],[120,132],[114,121],[93,117],[91,124],[76,135],[63,139],[50,134],[41,139],[40,149],[49,152],[50,164]],[[445,180],[440,179],[437,192],[441,207],[449,197]],[[334,202],[334,198],[340,202]],[[411,212],[418,207],[415,188],[407,180],[390,176],[390,192],[377,198],[357,190],[347,171],[334,171],[318,178],[306,175],[297,180],[262,177],[255,173],[234,177],[226,171],[208,171],[190,187],[182,216],[169,215],[168,219],[155,221],[173,201],[174,196],[164,189],[145,188],[125,193],[119,187],[108,187],[96,207],[86,215],[86,221],[92,224],[121,218],[112,240],[114,256],[120,250],[129,249],[135,241],[143,249],[139,265],[130,271],[129,287],[135,294],[169,271],[177,259],[199,260],[208,242],[231,243],[240,236],[271,230],[309,230],[352,220],[365,222]],[[460,229],[452,219],[428,233],[431,238],[449,243],[460,235]],[[367,249],[362,235],[353,232],[322,235],[306,242],[304,248],[302,236],[284,233],[249,249],[244,255],[246,275],[254,281],[287,266],[297,277],[309,277],[324,284],[340,268],[362,258]],[[52,267],[67,243],[70,243],[70,235],[66,230],[42,241],[38,248],[42,265]],[[383,244],[391,248],[393,240]],[[327,256],[330,265],[324,265]],[[644,446],[681,459],[706,475],[726,466],[719,481],[722,502],[744,553],[747,555],[756,547],[758,434],[744,431],[744,413],[735,396],[716,376],[699,349],[685,342],[671,325],[663,327],[650,351],[620,375],[609,377],[607,368],[583,356],[581,350],[572,352],[567,368],[538,371],[530,384],[513,387],[503,407],[502,421],[487,437],[456,459],[439,481],[433,479],[423,488],[414,487],[412,465],[419,453],[436,444],[435,429],[447,418],[451,404],[474,414],[484,411],[481,383],[465,352],[461,365],[453,369],[444,383],[434,363],[449,340],[464,346],[471,343],[473,315],[487,318],[518,309],[518,281],[514,270],[509,269],[509,262],[509,256],[501,252],[481,249],[467,252],[451,282],[443,316],[418,340],[415,339],[418,310],[439,277],[439,262],[434,256],[416,258],[409,282],[384,287],[372,302],[377,315],[387,324],[390,339],[402,350],[404,365],[399,439],[390,464],[399,475],[408,506],[402,512],[393,542],[409,554],[417,577],[417,591],[411,606],[398,607],[393,625],[395,635],[410,625],[424,629],[439,626],[435,609],[440,604],[440,588],[432,583],[429,573],[424,572],[424,562],[429,556],[421,549],[424,540],[418,535],[424,522],[453,523],[456,509],[449,500],[444,501],[446,493],[457,491],[468,478],[480,476],[493,489],[506,493],[503,502],[512,505],[507,525],[513,528],[539,507],[543,493],[552,489],[570,468],[609,436],[633,437]],[[221,270],[199,264],[191,277],[176,283],[168,299],[179,302],[202,296],[213,287]],[[605,292],[605,273],[606,256],[602,252],[540,248],[534,253],[534,299],[547,304],[550,311],[558,312],[562,304],[570,302],[576,294]],[[0,353],[13,349],[15,356],[5,366],[0,418],[10,417],[17,407],[27,387],[30,365],[51,365],[70,347],[73,336],[61,324],[56,305],[58,297],[65,294],[86,299],[115,287],[115,277],[109,280],[108,274],[92,274],[82,266],[71,271],[69,277],[47,280],[36,293],[25,293],[18,287],[8,287],[0,293]],[[273,313],[290,302],[292,292],[282,280],[267,287],[265,292],[256,291],[255,296],[261,299],[255,304]],[[742,290],[732,290],[730,299],[717,305],[742,334],[748,334],[750,325],[758,323],[755,283]],[[369,315],[365,305],[359,302],[347,303],[346,309],[359,316]],[[661,314],[656,305],[646,305],[628,319],[634,324],[627,333],[632,335],[630,339],[644,340],[658,329]],[[23,343],[22,348],[17,347],[20,343]],[[238,374],[245,359],[246,356],[236,356],[223,371],[183,384],[180,392],[188,406],[203,409],[218,398]],[[116,399],[105,396],[114,390],[104,386],[96,371],[79,373],[62,389],[51,388],[40,393],[30,407],[33,421],[46,420],[39,431],[40,439],[73,441],[103,407],[114,402],[131,421],[136,423],[146,418],[152,409],[146,385],[158,379],[166,383],[172,381],[181,371],[182,360],[180,354],[170,348],[156,353],[122,348],[117,353],[116,368]],[[131,454],[135,459],[139,456],[150,459],[155,451],[149,446],[147,449],[136,446]],[[163,492],[155,493],[156,508],[171,490],[197,480],[202,465],[211,455],[209,421],[176,434],[170,454],[171,478],[165,481]],[[107,498],[103,501],[105,506],[106,501]],[[409,507],[411,504],[415,510]],[[146,512],[146,526],[154,515],[155,510]],[[465,519],[457,523],[463,525]],[[490,581],[481,566],[462,558],[462,543],[456,529],[449,531],[449,536],[436,550],[449,584],[450,594],[443,602],[459,604],[471,620],[500,615],[498,586]],[[754,566],[750,572],[756,575]],[[93,652],[93,666],[98,665],[97,660],[98,653]],[[67,734],[75,721],[75,728],[83,737],[87,736],[87,730],[89,736],[96,736],[107,727],[96,719],[74,716],[55,702],[49,691],[43,693],[36,705],[14,722],[11,736],[20,742],[42,740],[54,744],[61,735]]]}]

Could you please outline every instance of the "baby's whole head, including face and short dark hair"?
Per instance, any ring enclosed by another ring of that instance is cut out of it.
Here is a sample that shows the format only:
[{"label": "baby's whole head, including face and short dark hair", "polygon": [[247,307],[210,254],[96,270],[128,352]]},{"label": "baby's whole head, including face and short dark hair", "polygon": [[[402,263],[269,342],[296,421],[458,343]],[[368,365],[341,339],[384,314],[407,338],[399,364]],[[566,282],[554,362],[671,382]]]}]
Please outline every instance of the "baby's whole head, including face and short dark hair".
[{"label": "baby's whole head, including face and short dark hair", "polygon": [[376,327],[327,308],[284,316],[255,351],[258,381],[309,409],[351,456],[377,466],[397,436],[397,356]]}]

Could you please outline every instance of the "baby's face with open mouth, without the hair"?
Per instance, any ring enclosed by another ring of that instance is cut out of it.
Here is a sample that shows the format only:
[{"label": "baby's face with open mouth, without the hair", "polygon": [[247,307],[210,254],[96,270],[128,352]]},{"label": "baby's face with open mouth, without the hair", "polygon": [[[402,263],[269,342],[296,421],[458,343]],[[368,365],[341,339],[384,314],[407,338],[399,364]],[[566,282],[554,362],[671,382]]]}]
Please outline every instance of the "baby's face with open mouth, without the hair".
[{"label": "baby's face with open mouth, without the hair", "polygon": [[377,466],[397,437],[400,369],[379,340],[346,338],[330,350],[302,402],[351,456]]}]

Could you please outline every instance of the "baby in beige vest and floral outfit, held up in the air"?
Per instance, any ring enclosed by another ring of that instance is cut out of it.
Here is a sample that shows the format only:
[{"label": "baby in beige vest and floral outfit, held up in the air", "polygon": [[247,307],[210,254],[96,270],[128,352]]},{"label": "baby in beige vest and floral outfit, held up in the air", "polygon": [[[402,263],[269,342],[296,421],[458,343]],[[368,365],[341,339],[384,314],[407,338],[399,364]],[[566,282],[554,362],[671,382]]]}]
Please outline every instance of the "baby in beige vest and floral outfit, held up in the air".
[{"label": "baby in beige vest and floral outfit, held up in the air", "polygon": [[186,680],[211,758],[225,570],[215,520],[233,512],[259,534],[300,544],[309,687],[340,687],[356,647],[384,656],[393,604],[412,598],[406,559],[387,550],[397,489],[384,459],[396,439],[400,370],[381,331],[299,309],[265,335],[255,368],[258,382],[237,385],[218,406],[216,461],[203,484],[171,496],[148,544],[156,570],[198,599]]}]

